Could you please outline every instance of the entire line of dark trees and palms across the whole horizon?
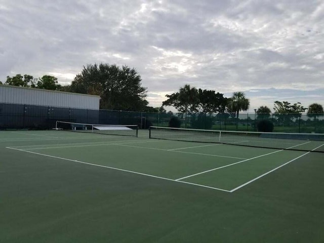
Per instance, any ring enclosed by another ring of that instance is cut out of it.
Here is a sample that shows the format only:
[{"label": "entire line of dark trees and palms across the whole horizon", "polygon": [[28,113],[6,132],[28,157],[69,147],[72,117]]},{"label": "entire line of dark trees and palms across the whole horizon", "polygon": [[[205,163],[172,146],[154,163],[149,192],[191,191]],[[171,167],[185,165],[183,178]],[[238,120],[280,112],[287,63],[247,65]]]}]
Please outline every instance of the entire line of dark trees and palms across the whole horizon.
[{"label": "entire line of dark trees and palms across the whole horizon", "polygon": [[[226,113],[232,117],[239,117],[240,111],[250,108],[250,100],[243,92],[234,92],[230,98],[214,90],[203,90],[186,84],[178,92],[166,95],[161,107],[148,106],[147,88],[143,87],[142,78],[134,68],[126,65],[119,67],[115,64],[88,64],[77,74],[68,86],[58,84],[57,78],[44,75],[33,78],[28,74],[7,76],[5,85],[30,87],[38,89],[65,91],[72,93],[100,96],[100,109],[166,112],[165,106],[173,106],[179,112],[193,113]],[[3,84],[0,82],[0,84]],[[308,108],[300,102],[291,104],[288,101],[275,101],[274,114],[290,114],[289,117],[300,117],[307,110],[309,116],[324,113],[320,104],[313,103]],[[267,106],[260,106],[255,110],[261,117],[270,116],[271,110]]]}]

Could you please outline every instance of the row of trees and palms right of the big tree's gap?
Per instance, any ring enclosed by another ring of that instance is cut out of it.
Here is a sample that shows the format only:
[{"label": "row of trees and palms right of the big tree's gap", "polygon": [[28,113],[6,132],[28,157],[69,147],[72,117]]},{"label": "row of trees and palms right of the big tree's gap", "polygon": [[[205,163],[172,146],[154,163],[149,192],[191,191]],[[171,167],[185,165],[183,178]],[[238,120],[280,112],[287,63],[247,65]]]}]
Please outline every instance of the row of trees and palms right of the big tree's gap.
[{"label": "row of trees and palms right of the big tree's gap", "polygon": [[[250,99],[243,92],[234,92],[230,98],[214,90],[202,90],[185,85],[178,92],[166,95],[168,98],[163,102],[163,106],[174,106],[181,113],[229,113],[238,118],[240,111],[246,111],[250,108]],[[274,112],[271,112],[267,106],[260,106],[256,109],[256,114],[265,118],[273,114],[291,114],[292,117],[299,117],[306,110],[308,114],[321,114],[323,107],[320,104],[313,103],[308,108],[301,105],[300,102],[291,104],[288,101],[274,101]]]}]

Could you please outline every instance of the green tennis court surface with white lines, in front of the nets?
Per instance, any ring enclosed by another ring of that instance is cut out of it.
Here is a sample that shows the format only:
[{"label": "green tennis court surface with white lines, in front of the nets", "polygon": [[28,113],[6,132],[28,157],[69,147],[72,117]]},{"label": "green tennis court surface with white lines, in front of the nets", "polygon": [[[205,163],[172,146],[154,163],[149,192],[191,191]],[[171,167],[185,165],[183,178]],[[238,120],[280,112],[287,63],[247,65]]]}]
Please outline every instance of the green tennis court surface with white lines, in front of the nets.
[{"label": "green tennis court surface with white lines, in front of the nets", "polygon": [[0,242],[324,242],[321,152],[53,130],[0,153]]}]

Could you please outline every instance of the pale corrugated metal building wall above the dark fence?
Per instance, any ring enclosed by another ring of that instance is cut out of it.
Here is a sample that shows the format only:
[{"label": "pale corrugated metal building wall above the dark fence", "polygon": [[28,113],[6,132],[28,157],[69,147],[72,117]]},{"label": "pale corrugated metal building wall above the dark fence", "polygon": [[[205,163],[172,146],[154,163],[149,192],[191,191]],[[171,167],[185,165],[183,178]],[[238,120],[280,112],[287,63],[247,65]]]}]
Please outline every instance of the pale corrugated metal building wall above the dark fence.
[{"label": "pale corrugated metal building wall above the dark fence", "polygon": [[99,110],[99,101],[96,95],[0,85],[0,103]]}]

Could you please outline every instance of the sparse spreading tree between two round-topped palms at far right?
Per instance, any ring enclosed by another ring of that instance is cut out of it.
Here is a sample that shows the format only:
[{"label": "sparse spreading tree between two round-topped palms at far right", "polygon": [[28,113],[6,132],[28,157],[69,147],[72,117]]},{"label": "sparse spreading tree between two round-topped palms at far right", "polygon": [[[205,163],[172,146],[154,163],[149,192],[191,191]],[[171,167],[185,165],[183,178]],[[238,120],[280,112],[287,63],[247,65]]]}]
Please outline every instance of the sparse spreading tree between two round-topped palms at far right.
[{"label": "sparse spreading tree between two round-topped palms at far right", "polygon": [[274,114],[278,117],[278,121],[289,125],[294,118],[301,117],[301,113],[305,112],[307,108],[301,105],[300,102],[291,104],[288,101],[275,101],[274,102]]}]

